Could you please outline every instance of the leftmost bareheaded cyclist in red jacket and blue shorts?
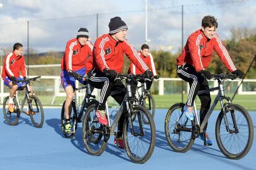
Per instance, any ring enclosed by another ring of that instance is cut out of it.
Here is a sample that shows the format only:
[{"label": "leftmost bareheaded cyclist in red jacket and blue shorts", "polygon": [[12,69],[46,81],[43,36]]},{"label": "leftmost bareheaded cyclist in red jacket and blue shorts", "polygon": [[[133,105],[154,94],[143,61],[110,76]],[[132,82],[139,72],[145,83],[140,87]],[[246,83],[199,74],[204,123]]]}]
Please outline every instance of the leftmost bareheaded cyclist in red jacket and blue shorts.
[{"label": "leftmost bareheaded cyclist in red jacket and blue shorts", "polygon": [[[18,83],[27,78],[27,69],[25,65],[25,58],[22,54],[23,46],[19,42],[14,44],[13,51],[4,57],[4,64],[2,66],[2,79],[4,79],[4,84],[10,88],[8,110],[14,112],[14,95],[17,89],[25,87],[25,82]],[[20,76],[20,72],[22,76]],[[30,86],[30,91],[32,92],[32,86]],[[30,94],[33,95],[33,92]],[[30,112],[27,110],[27,115]]]}]

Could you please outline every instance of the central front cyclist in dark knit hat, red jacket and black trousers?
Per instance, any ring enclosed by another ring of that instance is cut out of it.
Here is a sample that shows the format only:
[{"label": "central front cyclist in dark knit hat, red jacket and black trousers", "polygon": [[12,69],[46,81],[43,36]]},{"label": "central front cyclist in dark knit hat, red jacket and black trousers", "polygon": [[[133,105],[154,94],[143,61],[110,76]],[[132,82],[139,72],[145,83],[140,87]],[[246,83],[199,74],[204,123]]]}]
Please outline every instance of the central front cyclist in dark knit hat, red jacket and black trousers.
[{"label": "central front cyclist in dark knit hat, red jacket and black trousers", "polygon": [[[96,110],[96,116],[101,124],[108,125],[108,120],[105,115],[105,103],[111,91],[124,88],[120,79],[115,79],[117,73],[121,73],[124,68],[124,54],[129,60],[136,65],[148,78],[153,76],[153,73],[148,70],[147,65],[139,57],[137,51],[126,39],[128,26],[121,20],[120,17],[111,18],[109,22],[109,33],[103,34],[96,39],[93,49],[93,69],[89,83],[98,89],[101,89],[99,105]],[[137,84],[132,87],[136,89]],[[112,97],[121,104],[125,93],[122,92]],[[124,123],[124,113],[119,119],[117,141],[119,147],[124,148],[122,136],[122,125]]]}]

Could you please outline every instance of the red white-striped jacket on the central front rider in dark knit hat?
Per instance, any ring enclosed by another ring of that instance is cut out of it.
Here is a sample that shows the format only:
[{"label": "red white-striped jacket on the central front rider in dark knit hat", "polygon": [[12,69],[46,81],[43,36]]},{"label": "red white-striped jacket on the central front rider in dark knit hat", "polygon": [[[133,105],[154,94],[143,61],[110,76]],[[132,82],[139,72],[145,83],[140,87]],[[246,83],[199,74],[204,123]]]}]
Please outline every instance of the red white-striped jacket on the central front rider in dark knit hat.
[{"label": "red white-striped jacket on the central front rider in dark knit hat", "polygon": [[118,42],[109,34],[103,34],[96,39],[93,49],[93,64],[100,71],[109,68],[109,70],[121,73],[124,68],[124,54],[140,71],[144,73],[145,70],[148,70],[147,65],[127,40]]}]

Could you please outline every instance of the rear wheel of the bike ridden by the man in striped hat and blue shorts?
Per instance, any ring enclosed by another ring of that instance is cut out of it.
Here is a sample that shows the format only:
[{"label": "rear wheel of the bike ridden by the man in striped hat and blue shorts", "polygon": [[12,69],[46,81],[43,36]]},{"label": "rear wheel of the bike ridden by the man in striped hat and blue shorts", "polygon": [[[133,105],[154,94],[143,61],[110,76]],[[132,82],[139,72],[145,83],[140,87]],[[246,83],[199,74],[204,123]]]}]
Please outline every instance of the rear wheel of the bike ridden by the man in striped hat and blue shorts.
[{"label": "rear wheel of the bike ridden by the man in striped hat and blue shorts", "polygon": [[65,109],[64,109],[65,103],[66,101],[62,104],[62,108],[61,108],[61,130],[66,138],[73,138],[75,135],[75,131],[77,129],[77,119],[74,113],[75,103],[72,101],[69,107],[71,132],[65,131],[65,126],[66,126],[66,115],[65,115]]}]

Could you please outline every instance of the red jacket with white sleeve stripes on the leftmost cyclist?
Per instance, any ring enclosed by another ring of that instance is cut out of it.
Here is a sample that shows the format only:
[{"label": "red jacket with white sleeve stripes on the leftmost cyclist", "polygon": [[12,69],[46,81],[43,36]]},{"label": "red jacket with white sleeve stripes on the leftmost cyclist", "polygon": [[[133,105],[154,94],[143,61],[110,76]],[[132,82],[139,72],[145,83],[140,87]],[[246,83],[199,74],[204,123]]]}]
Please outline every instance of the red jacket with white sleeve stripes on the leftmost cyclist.
[{"label": "red jacket with white sleeve stripes on the leftmost cyclist", "polygon": [[27,70],[25,65],[25,59],[23,55],[15,55],[14,52],[7,54],[4,57],[4,64],[2,65],[2,79],[6,76],[14,76],[18,78],[20,76],[20,71],[23,77],[27,77]]}]

